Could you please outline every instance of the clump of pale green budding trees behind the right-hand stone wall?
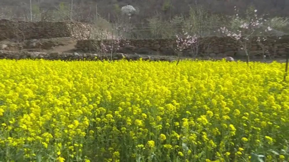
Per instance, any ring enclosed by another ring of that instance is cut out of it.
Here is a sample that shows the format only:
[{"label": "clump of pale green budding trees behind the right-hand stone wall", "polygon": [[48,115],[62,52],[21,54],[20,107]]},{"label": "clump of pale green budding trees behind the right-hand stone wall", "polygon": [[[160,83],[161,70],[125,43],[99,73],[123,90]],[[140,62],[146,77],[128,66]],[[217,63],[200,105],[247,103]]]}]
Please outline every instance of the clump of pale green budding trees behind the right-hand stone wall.
[{"label": "clump of pale green budding trees behind the right-hand stone wall", "polygon": [[201,6],[192,7],[187,18],[183,15],[176,15],[171,20],[164,21],[157,14],[148,19],[148,21],[150,32],[154,38],[172,38],[182,30],[188,32],[190,35],[212,35],[223,24],[223,19],[220,15],[209,14]]}]

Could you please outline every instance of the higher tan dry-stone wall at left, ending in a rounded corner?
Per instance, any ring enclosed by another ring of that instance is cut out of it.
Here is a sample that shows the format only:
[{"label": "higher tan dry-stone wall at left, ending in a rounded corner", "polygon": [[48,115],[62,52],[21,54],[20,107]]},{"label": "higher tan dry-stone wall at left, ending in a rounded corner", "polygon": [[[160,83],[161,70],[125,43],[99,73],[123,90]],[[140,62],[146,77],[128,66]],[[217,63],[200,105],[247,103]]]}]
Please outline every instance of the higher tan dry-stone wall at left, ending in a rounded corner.
[{"label": "higher tan dry-stone wall at left, ending in a rounded corner", "polygon": [[77,22],[25,22],[0,20],[0,41],[4,39],[27,40],[40,38],[70,37],[85,40],[92,28]]}]

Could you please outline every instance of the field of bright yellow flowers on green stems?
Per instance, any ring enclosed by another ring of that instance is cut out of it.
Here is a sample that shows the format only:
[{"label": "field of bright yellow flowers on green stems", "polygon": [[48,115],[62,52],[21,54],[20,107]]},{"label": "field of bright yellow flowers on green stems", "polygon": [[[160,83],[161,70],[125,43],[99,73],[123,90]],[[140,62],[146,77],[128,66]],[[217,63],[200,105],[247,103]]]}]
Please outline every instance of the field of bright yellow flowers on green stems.
[{"label": "field of bright yellow flowers on green stems", "polygon": [[284,68],[0,60],[0,161],[288,161]]}]

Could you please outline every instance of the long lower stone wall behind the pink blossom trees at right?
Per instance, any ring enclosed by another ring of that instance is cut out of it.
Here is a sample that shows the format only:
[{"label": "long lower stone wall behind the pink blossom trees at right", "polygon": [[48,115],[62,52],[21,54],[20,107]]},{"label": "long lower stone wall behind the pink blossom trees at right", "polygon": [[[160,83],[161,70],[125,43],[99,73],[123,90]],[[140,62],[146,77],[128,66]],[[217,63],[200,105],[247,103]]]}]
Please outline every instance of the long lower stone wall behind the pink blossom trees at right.
[{"label": "long lower stone wall behind the pink blossom trees at right", "polygon": [[[256,38],[255,38],[256,39]],[[254,40],[255,40],[254,39]],[[270,57],[285,57],[289,53],[289,35],[282,37],[266,37],[263,46],[253,41],[251,57],[263,56],[263,51]],[[103,40],[108,44],[109,40]],[[98,40],[79,40],[77,49],[83,51],[96,51],[100,47],[101,41]],[[143,39],[143,40],[121,40],[119,52],[138,53],[138,54],[159,54],[174,55],[173,48],[176,46],[174,39]],[[184,50],[184,55],[192,56],[192,50]],[[199,39],[198,55],[203,57],[245,57],[245,52],[241,50],[240,43],[230,37],[204,37]]]}]

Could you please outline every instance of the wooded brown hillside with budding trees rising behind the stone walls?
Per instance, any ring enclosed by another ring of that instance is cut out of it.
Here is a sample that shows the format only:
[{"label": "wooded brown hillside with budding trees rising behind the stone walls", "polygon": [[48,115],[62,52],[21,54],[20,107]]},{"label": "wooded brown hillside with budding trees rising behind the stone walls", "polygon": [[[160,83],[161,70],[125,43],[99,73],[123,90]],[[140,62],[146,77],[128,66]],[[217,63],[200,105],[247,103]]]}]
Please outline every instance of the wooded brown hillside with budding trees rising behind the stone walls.
[{"label": "wooded brown hillside with budding trees rising behind the stone walls", "polygon": [[[270,20],[271,24],[267,26],[283,33],[289,32],[289,19],[286,19],[289,17],[288,0],[31,0],[31,2],[30,12],[29,0],[25,2],[1,0],[0,19],[77,21],[95,24],[107,32],[129,38],[160,38],[175,36],[175,33],[184,27],[184,22],[189,22],[194,27],[199,26],[204,30],[202,31],[204,35],[215,35],[214,31],[219,27],[231,25],[232,16],[236,15],[234,6],[242,18],[246,17],[246,10],[253,6],[251,11],[257,9],[258,15],[266,15]],[[136,10],[129,19],[121,12],[121,7],[126,5],[132,5]],[[191,8],[202,10],[191,12]],[[274,21],[272,18],[275,18]]]}]

